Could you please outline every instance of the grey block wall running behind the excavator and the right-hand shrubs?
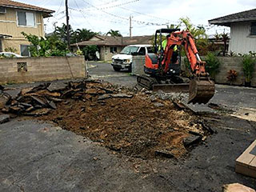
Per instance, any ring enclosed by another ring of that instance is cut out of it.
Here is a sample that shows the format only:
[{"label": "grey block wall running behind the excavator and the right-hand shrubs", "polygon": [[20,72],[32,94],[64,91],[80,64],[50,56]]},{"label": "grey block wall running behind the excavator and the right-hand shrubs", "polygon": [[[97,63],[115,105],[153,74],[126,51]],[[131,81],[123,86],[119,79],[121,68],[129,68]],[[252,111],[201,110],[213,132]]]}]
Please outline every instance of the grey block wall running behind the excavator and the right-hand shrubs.
[{"label": "grey block wall running behind the excavator and the right-hand shrubs", "polygon": [[[242,71],[242,58],[241,57],[218,57],[221,62],[219,67],[219,73],[215,77],[215,82],[219,84],[230,84],[228,79],[229,70],[236,70],[238,72],[238,77],[236,81],[233,82],[235,86],[242,86],[245,82],[244,73]],[[204,57],[202,57],[202,61],[204,61]],[[134,56],[133,64],[132,64],[132,75],[140,75],[144,74],[144,56]],[[184,66],[184,58],[182,58],[182,70],[186,70]],[[251,86],[256,86],[256,66],[254,68],[253,78],[251,80]]]}]

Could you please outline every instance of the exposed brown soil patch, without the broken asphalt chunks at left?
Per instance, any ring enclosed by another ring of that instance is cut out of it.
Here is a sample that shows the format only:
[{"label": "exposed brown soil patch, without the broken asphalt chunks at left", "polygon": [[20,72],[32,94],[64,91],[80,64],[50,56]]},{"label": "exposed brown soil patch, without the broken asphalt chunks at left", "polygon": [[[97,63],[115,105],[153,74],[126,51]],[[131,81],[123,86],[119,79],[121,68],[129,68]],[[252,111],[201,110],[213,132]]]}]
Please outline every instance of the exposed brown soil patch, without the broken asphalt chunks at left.
[{"label": "exposed brown soil patch, without the broken asphalt chunks at left", "polygon": [[100,94],[95,93],[91,86],[84,91],[83,99],[58,102],[57,110],[39,119],[55,122],[110,150],[136,158],[155,158],[159,154],[180,158],[187,152],[183,140],[191,132],[207,134],[196,116],[177,110],[169,100],[151,101],[150,95],[144,93],[129,93],[132,98],[98,100]]}]

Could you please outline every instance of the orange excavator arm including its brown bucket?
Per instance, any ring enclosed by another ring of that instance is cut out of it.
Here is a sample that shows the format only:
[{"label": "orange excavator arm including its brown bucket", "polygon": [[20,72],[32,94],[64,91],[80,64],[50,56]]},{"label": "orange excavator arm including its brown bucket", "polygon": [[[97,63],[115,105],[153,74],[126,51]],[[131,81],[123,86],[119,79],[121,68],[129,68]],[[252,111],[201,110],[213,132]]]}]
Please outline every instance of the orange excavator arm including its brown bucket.
[{"label": "orange excavator arm including its brown bucket", "polygon": [[214,82],[210,80],[209,74],[206,73],[206,62],[202,62],[194,38],[189,31],[174,31],[167,38],[165,50],[160,50],[159,69],[164,74],[167,73],[174,51],[174,46],[184,46],[186,57],[190,62],[193,78],[190,80],[190,97],[189,103],[207,103],[214,96]]}]

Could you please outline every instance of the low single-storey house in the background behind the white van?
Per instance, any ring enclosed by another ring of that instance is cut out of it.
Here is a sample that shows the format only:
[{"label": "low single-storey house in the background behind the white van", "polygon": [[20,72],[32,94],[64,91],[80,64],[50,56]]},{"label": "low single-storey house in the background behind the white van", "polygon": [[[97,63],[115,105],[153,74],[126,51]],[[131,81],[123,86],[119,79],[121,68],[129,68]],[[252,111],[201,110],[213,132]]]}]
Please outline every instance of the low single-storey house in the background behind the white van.
[{"label": "low single-storey house in the background behind the white van", "polygon": [[111,37],[106,35],[95,35],[88,41],[72,44],[71,47],[76,51],[85,46],[98,46],[99,59],[110,61],[114,54],[118,54],[122,48],[129,45],[149,45],[151,44],[152,35],[134,36],[134,37]]}]

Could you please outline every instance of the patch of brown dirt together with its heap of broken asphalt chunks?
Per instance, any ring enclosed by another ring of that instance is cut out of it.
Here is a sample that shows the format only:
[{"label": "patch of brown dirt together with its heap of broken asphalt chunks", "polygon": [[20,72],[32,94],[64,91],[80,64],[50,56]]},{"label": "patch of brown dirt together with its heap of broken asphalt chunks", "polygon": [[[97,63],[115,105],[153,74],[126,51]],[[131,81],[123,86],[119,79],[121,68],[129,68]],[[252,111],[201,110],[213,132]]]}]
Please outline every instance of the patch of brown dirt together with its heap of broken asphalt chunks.
[{"label": "patch of brown dirt together with its heap of broken asphalt chunks", "polygon": [[[47,111],[34,113],[29,107]],[[169,99],[98,81],[23,89],[3,110],[43,114],[37,118],[136,158],[180,158],[209,134],[197,116],[178,110]]]}]

